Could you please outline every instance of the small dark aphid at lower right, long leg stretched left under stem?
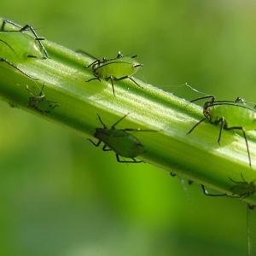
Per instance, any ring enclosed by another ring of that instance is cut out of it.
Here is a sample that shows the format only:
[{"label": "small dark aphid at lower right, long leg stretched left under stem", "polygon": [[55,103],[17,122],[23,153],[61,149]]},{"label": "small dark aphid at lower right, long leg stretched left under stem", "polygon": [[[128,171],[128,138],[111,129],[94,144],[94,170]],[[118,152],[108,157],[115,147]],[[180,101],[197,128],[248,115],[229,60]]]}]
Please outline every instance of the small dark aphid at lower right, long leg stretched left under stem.
[{"label": "small dark aphid at lower right, long leg stretched left under stem", "polygon": [[[226,194],[226,193],[211,194],[207,191],[205,186],[202,184],[201,184],[201,189],[203,190],[203,193],[208,196],[228,196],[228,197],[240,198],[240,199],[245,199],[251,195],[254,195],[256,192],[256,185],[255,185],[256,178],[253,179],[253,181],[251,182],[247,182],[241,174],[241,181],[235,181],[232,178],[230,178],[230,181],[232,183],[235,183],[235,185],[230,188],[231,194]],[[248,207],[253,209],[254,206],[248,205]]]}]

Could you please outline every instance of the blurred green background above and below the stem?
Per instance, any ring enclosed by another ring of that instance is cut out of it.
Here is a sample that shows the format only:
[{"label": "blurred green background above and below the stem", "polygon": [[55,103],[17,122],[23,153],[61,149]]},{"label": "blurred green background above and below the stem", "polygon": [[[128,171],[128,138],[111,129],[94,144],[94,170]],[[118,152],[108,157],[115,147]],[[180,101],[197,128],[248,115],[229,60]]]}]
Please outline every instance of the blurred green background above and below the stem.
[{"label": "blurred green background above and below the stem", "polygon": [[[71,49],[137,54],[137,78],[165,90],[188,82],[256,101],[255,1],[24,0],[1,11]],[[245,203],[206,197],[154,166],[118,164],[4,102],[0,112],[0,255],[247,255]]]}]

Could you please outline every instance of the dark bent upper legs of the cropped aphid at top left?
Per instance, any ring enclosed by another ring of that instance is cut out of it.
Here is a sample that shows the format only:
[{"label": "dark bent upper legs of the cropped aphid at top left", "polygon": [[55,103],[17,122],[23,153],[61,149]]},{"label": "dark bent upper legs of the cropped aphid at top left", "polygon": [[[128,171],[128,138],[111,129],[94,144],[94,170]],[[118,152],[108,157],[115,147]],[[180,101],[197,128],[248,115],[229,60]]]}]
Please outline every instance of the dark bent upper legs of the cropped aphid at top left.
[{"label": "dark bent upper legs of the cropped aphid at top left", "polygon": [[[18,24],[16,24],[15,22],[11,21],[11,20],[3,20],[3,24],[1,26],[0,32],[17,32],[14,30],[5,30],[5,26],[6,24],[10,24],[12,26],[16,26],[19,30],[18,32],[26,32],[26,31],[30,31],[32,32],[32,34],[34,35],[34,39],[38,42],[42,52],[43,52],[43,58],[48,58],[48,53],[46,51],[46,49],[44,48],[44,45],[42,44],[41,41],[44,41],[44,38],[38,38],[38,34],[36,33],[36,31],[34,30],[34,28],[31,25],[26,25],[26,26],[20,26]],[[27,55],[28,57],[37,57],[37,55]]]}]

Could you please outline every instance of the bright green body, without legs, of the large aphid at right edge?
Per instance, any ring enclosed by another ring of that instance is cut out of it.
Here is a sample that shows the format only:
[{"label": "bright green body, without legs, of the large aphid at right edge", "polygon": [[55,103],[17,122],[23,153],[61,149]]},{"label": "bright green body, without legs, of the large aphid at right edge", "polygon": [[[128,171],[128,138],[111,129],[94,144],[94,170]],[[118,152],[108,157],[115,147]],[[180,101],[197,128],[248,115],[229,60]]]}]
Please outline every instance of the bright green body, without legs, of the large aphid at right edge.
[{"label": "bright green body, without legs, of the large aphid at right edge", "polygon": [[256,129],[256,112],[240,105],[217,105],[210,107],[210,122],[224,118],[227,127],[242,127],[251,131]]}]

